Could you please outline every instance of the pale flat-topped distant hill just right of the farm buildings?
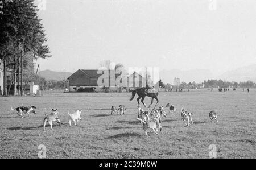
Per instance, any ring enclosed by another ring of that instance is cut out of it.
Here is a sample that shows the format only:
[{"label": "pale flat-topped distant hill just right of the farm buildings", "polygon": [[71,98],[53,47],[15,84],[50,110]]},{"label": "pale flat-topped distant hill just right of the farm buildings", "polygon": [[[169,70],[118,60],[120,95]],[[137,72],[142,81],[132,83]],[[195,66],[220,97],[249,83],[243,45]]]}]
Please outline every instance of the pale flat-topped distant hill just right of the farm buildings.
[{"label": "pale flat-topped distant hill just right of the farm buildings", "polygon": [[159,78],[162,79],[164,84],[174,83],[174,78],[180,78],[180,82],[203,82],[213,78],[213,74],[208,69],[193,69],[188,71],[181,71],[179,69],[163,70],[159,72]]}]

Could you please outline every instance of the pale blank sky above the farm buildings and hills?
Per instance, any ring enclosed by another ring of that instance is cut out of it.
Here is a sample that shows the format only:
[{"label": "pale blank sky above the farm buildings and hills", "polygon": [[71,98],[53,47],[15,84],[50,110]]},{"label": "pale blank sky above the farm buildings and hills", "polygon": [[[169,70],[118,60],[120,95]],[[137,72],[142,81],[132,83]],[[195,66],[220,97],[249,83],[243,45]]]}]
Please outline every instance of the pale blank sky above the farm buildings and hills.
[{"label": "pale blank sky above the farm buildings and hills", "polygon": [[256,64],[255,0],[46,0],[39,17],[52,52],[40,70],[98,69],[104,59],[214,74]]}]

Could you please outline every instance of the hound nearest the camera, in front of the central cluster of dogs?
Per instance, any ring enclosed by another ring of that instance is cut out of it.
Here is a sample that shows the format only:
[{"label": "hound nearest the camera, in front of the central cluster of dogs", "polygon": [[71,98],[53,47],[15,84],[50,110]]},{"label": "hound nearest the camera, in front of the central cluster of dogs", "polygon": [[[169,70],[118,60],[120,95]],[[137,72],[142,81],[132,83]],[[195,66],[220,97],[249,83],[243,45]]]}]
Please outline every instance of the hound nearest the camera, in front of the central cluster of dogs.
[{"label": "hound nearest the camera, in front of the central cluster of dogs", "polygon": [[147,136],[148,136],[148,134],[147,134],[147,129],[148,128],[152,129],[155,132],[156,135],[159,135],[158,132],[157,132],[158,129],[160,129],[160,131],[162,131],[162,129],[163,129],[163,127],[160,125],[158,119],[154,118],[154,119],[149,119],[147,121],[143,121],[140,118],[137,118],[137,119],[138,119],[138,121],[143,123],[142,128],[143,128],[143,130],[144,130],[144,132]]}]

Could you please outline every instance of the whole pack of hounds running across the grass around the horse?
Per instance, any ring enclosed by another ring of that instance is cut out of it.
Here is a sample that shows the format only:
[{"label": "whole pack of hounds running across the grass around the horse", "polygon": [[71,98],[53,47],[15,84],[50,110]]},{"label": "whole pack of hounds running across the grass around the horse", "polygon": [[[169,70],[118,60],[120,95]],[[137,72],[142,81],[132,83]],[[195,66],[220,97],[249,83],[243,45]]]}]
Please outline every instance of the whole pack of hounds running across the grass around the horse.
[{"label": "whole pack of hounds running across the grass around the horse", "polygon": [[[162,131],[163,129],[163,127],[161,126],[162,120],[167,118],[167,113],[164,110],[163,106],[160,106],[159,109],[155,109],[155,107],[151,111],[149,110],[145,111],[138,106],[137,120],[142,123],[143,125],[142,128],[147,136],[148,136],[147,130],[150,130],[150,129],[154,131],[155,134],[159,135],[158,131]],[[170,114],[171,112],[177,113],[176,107],[174,105],[170,105],[170,103],[168,103],[166,107],[169,110],[168,114]],[[13,111],[16,110],[17,111],[16,114],[18,114],[19,117],[22,117],[22,118],[24,118],[25,115],[28,115],[28,117],[30,117],[32,113],[36,114],[36,111],[34,109],[36,109],[35,106],[30,106],[30,107],[19,106],[15,109],[11,107],[11,110]],[[112,106],[110,110],[111,110],[111,114],[113,115],[114,114],[124,115],[126,112],[126,107],[124,105],[120,105],[119,107]],[[77,122],[81,121],[81,112],[82,110],[76,110],[73,113],[69,113],[68,111],[69,126],[71,126],[72,122],[76,125]],[[49,114],[47,114],[47,110],[45,109],[44,119],[43,119],[43,130],[46,129],[47,123],[50,125],[51,129],[52,129],[53,122],[57,122],[61,124],[58,114],[59,114],[59,111],[57,109],[52,109]],[[185,126],[193,125],[193,120],[192,120],[193,113],[185,109],[181,109],[180,114],[181,114],[181,120],[185,123]],[[213,120],[218,122],[216,110],[210,111],[209,117],[211,122],[213,122]]]}]

